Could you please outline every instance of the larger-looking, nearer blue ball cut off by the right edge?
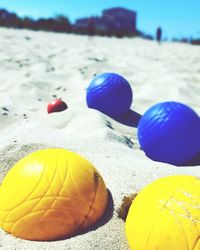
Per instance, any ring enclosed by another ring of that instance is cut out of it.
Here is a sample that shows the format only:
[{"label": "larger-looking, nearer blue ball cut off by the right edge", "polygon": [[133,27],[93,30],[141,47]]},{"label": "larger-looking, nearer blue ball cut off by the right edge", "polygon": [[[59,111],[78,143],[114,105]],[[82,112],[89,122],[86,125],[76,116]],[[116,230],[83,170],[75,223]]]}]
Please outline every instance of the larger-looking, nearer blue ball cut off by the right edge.
[{"label": "larger-looking, nearer blue ball cut off by the right edge", "polygon": [[138,139],[152,160],[183,165],[200,151],[200,118],[178,102],[156,104],[142,116]]}]

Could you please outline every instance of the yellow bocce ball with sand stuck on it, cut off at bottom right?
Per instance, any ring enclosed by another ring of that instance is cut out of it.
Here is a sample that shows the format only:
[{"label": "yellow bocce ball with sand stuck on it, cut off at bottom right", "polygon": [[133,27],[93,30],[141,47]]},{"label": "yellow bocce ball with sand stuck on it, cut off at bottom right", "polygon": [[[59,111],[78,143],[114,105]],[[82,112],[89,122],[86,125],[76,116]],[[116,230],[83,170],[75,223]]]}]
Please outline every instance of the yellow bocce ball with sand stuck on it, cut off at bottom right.
[{"label": "yellow bocce ball with sand stuck on it, cut off at bottom right", "polygon": [[200,250],[200,179],[170,176],[145,187],[126,219],[132,250]]}]

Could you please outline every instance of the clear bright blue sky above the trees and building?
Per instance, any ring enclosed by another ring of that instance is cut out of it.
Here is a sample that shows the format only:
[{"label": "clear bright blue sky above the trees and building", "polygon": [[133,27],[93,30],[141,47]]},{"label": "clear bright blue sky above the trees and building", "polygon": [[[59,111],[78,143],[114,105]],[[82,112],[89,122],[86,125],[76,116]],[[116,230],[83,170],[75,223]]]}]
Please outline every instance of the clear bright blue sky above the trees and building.
[{"label": "clear bright blue sky above the trees and building", "polygon": [[137,11],[137,27],[154,35],[157,26],[166,38],[200,37],[200,0],[2,0],[0,8],[33,18],[101,15],[103,9],[125,7]]}]

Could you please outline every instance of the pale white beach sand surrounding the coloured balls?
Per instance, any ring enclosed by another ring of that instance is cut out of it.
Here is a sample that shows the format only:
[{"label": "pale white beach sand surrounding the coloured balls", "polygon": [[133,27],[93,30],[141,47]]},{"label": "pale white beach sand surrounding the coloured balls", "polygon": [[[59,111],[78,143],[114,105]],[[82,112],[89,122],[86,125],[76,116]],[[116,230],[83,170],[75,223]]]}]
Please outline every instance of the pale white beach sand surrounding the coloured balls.
[{"label": "pale white beach sand surrounding the coloured balls", "polygon": [[[134,111],[143,114],[157,102],[174,100],[200,114],[200,47],[0,29],[0,65],[0,182],[28,153],[63,147],[93,163],[114,202],[113,216],[85,234],[31,242],[1,230],[0,249],[127,250],[124,222],[116,214],[123,196],[162,176],[200,176],[200,166],[148,159],[139,149],[136,128],[88,109],[85,102],[94,74],[116,72],[132,86]],[[62,97],[69,109],[47,114],[52,95]]]}]

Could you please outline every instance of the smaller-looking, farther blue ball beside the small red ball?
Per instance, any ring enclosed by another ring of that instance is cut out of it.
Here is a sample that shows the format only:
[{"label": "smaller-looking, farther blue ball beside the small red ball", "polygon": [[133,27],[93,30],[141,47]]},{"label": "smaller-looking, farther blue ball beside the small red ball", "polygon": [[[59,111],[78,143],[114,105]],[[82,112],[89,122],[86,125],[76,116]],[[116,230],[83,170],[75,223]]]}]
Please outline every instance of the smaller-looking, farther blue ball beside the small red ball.
[{"label": "smaller-looking, farther blue ball beside the small red ball", "polygon": [[132,103],[130,84],[115,73],[96,76],[87,89],[87,105],[111,117],[126,113]]}]

